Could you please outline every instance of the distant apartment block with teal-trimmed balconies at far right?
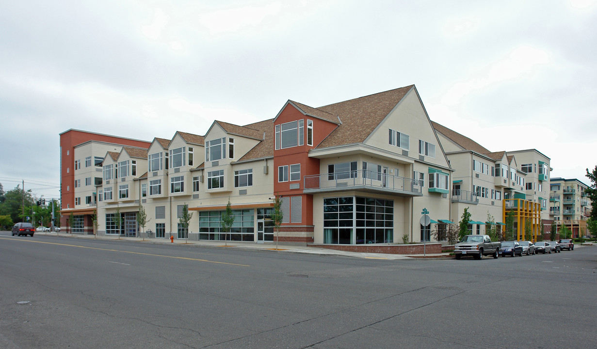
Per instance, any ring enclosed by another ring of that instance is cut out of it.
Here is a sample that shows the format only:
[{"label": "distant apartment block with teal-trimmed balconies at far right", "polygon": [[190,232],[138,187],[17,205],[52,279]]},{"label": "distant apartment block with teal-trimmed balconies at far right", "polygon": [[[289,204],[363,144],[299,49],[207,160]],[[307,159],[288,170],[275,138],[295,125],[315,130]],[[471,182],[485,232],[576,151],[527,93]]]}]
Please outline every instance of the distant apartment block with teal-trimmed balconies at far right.
[{"label": "distant apartment block with teal-trimmed balconies at far right", "polygon": [[558,228],[567,226],[573,237],[588,236],[587,219],[592,203],[584,192],[589,186],[576,178],[551,178],[549,215]]}]

